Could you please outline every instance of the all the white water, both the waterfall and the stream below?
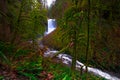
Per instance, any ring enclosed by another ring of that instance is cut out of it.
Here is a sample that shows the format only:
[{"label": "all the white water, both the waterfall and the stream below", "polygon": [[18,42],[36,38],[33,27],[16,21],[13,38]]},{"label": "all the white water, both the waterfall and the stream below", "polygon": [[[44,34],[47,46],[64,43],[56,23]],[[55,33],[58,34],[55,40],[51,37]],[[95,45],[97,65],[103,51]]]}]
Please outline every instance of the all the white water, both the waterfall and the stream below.
[{"label": "all the white water, both the waterfall and the stream below", "polygon": [[[46,35],[51,33],[52,31],[54,31],[56,29],[56,22],[55,22],[55,19],[48,19],[48,29],[47,31],[45,32]],[[48,50],[44,53],[44,57],[52,57],[55,55],[55,53],[58,52],[57,50]],[[72,64],[72,56],[68,55],[68,54],[59,54],[57,56],[58,59],[61,59],[62,63],[68,65],[68,66],[71,66]],[[77,70],[80,70],[82,67],[83,70],[85,70],[85,65],[81,62],[79,62],[78,60],[76,61],[76,69]],[[97,68],[93,68],[93,67],[88,67],[88,72],[89,73],[93,73],[94,75],[96,76],[100,76],[100,77],[103,77],[107,80],[120,80],[120,78],[114,76],[114,75],[111,75],[110,73],[107,73],[107,72],[104,72],[100,69],[97,69]]]}]

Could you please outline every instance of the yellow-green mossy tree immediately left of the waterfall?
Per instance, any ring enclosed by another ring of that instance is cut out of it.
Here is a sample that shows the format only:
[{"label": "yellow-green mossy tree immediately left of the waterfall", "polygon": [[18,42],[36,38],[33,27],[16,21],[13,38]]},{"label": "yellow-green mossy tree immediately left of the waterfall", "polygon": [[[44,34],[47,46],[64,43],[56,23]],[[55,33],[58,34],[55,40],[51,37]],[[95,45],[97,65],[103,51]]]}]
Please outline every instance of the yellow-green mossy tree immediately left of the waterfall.
[{"label": "yellow-green mossy tree immediately left of the waterfall", "polygon": [[40,9],[40,5],[38,2],[36,2],[36,4],[33,6],[33,9],[30,13],[30,18],[32,21],[32,33],[30,33],[31,39],[33,41],[33,45],[35,47],[35,39],[37,37],[37,35],[44,35],[44,32],[46,30],[46,25],[45,22],[47,22],[47,17],[46,17],[46,13],[45,10],[39,10]]}]

